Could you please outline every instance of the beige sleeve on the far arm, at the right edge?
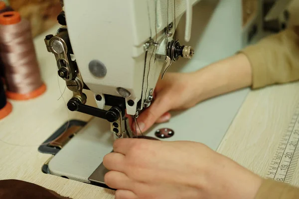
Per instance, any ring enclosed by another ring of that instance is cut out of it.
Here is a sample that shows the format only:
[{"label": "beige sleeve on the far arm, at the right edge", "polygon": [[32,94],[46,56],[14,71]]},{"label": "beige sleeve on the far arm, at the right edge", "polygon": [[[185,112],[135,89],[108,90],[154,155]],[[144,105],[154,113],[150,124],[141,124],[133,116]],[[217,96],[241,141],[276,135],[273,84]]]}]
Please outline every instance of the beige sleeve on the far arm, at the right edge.
[{"label": "beige sleeve on the far arm, at the right edge", "polygon": [[299,80],[299,27],[241,50],[252,66],[253,89]]}]

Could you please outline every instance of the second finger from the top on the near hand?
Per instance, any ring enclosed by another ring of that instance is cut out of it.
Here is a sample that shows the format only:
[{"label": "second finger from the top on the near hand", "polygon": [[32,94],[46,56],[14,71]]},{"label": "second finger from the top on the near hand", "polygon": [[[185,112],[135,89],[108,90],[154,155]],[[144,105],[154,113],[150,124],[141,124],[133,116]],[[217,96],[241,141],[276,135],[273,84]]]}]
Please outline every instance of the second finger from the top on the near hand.
[{"label": "second finger from the top on the near hand", "polygon": [[110,171],[122,172],[125,165],[125,156],[120,153],[108,153],[103,158],[103,164]]}]

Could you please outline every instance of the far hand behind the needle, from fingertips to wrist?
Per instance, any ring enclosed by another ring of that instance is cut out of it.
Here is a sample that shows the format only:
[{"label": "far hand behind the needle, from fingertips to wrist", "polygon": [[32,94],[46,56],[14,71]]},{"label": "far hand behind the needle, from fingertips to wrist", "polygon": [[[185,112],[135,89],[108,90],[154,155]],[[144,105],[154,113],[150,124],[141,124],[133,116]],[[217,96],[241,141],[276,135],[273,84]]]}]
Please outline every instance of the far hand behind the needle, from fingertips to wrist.
[{"label": "far hand behind the needle, from fingertips to wrist", "polygon": [[[199,102],[196,91],[194,73],[166,73],[163,80],[158,80],[154,90],[154,100],[145,109],[137,121],[142,132],[154,123],[166,122],[170,119],[170,110],[182,110]],[[132,124],[135,130],[135,123]],[[137,128],[137,132],[140,131]]]}]

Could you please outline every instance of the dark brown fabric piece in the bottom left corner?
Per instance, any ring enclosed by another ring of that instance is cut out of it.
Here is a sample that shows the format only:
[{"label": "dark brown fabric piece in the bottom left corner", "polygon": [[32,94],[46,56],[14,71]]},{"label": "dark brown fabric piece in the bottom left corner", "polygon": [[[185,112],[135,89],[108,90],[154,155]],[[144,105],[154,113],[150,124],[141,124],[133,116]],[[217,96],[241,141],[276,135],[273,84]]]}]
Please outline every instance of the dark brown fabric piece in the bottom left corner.
[{"label": "dark brown fabric piece in the bottom left corner", "polygon": [[0,199],[70,199],[41,186],[19,181],[0,181]]}]

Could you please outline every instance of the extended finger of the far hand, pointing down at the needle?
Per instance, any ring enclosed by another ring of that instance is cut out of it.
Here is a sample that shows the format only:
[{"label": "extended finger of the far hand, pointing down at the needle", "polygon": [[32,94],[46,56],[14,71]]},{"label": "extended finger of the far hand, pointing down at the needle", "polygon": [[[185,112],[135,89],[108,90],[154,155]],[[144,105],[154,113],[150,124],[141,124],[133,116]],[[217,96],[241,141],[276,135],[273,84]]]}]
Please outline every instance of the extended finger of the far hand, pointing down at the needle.
[{"label": "extended finger of the far hand, pointing down at the needle", "polygon": [[165,95],[159,94],[159,96],[157,96],[157,98],[152,102],[149,108],[147,108],[139,115],[137,119],[139,127],[137,125],[137,130],[135,130],[135,123],[133,122],[133,130],[137,131],[138,133],[140,133],[140,131],[144,132],[148,130],[149,127],[151,127],[152,124],[154,124],[160,116],[162,116],[165,112],[167,112],[170,109],[170,103],[166,101]]}]

